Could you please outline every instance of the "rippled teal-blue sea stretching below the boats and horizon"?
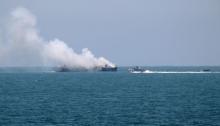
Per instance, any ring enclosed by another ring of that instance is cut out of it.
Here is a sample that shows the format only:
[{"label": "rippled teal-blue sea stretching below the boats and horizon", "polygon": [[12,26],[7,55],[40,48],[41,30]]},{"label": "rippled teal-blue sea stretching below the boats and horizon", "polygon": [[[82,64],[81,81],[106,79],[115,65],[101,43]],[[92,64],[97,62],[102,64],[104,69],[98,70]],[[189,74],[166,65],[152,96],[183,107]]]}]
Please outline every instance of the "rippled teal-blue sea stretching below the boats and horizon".
[{"label": "rippled teal-blue sea stretching below the boats and horizon", "polygon": [[220,126],[220,67],[127,69],[0,68],[0,126]]}]

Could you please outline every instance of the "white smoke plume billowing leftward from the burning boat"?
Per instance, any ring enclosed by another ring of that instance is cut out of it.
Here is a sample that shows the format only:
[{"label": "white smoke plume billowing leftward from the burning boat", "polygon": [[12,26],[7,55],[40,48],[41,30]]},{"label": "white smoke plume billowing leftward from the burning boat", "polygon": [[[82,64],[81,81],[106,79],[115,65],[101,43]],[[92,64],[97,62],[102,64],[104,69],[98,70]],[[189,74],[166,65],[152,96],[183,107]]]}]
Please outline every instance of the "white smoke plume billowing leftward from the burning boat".
[{"label": "white smoke plume billowing leftward from the burning boat", "polygon": [[6,42],[0,42],[1,66],[62,66],[92,69],[115,65],[103,57],[95,57],[87,49],[80,54],[55,38],[51,41],[39,36],[36,18],[25,8],[16,8],[11,13]]}]

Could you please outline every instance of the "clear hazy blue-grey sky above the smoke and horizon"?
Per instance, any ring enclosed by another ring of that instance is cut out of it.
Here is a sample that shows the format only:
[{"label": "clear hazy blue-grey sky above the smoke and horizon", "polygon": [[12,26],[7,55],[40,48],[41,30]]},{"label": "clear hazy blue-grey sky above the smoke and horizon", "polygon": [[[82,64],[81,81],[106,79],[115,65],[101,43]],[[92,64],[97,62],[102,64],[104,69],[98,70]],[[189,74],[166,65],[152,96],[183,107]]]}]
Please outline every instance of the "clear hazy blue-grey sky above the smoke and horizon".
[{"label": "clear hazy blue-grey sky above the smoke and horizon", "polygon": [[16,7],[45,39],[119,66],[220,65],[219,0],[0,0],[0,42]]}]

